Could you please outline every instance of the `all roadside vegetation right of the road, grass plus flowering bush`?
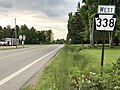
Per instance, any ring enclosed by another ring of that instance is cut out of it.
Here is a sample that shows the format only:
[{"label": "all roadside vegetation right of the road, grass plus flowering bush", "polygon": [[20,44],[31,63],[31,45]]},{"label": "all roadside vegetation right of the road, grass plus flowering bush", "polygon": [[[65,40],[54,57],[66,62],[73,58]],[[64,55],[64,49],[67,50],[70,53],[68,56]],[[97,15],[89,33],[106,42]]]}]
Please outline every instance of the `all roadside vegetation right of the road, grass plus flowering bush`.
[{"label": "all roadside vegetation right of the road, grass plus flowering bush", "polygon": [[120,47],[105,50],[101,74],[100,48],[66,45],[45,68],[36,85],[23,90],[120,90],[118,52]]}]

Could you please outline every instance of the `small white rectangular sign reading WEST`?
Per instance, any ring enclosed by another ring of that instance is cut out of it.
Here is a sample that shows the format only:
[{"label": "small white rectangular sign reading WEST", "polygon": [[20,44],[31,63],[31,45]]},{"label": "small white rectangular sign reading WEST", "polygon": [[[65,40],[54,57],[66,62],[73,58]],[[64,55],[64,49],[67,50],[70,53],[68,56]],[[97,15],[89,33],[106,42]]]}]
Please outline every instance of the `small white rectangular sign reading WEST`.
[{"label": "small white rectangular sign reading WEST", "polygon": [[98,6],[99,14],[115,14],[115,6],[112,5],[99,5]]}]

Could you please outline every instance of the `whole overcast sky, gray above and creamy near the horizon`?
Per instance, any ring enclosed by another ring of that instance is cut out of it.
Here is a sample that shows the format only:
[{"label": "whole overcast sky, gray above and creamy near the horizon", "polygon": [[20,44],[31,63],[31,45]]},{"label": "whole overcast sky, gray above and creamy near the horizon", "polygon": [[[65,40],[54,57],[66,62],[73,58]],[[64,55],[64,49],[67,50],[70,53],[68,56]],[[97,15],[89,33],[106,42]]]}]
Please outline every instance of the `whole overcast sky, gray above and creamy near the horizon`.
[{"label": "whole overcast sky, gray above and creamy near the horizon", "polygon": [[54,38],[67,35],[68,13],[76,10],[79,0],[0,0],[0,25],[34,26],[37,30],[52,29]]}]

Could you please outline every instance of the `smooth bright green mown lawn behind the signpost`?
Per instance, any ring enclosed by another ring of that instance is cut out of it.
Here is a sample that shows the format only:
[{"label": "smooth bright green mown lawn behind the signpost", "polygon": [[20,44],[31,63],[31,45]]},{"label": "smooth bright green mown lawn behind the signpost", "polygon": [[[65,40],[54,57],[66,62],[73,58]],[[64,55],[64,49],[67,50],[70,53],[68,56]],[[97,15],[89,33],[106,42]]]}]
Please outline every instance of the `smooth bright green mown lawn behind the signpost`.
[{"label": "smooth bright green mown lawn behind the signpost", "polygon": [[[105,47],[104,51],[104,65],[112,65],[112,63],[115,63],[117,59],[120,57],[120,47],[115,46],[114,48],[108,48]],[[102,49],[101,48],[94,48],[94,49],[84,49],[81,51],[82,54],[89,55],[92,58],[94,58],[98,65],[101,64],[101,54]]]}]

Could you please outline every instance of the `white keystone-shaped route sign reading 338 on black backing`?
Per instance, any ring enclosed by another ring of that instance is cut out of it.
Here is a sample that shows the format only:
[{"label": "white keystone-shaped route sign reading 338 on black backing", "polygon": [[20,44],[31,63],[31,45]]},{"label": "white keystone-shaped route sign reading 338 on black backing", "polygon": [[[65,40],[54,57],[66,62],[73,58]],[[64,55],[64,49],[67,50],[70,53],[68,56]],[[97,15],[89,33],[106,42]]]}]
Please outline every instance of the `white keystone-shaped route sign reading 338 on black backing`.
[{"label": "white keystone-shaped route sign reading 338 on black backing", "polygon": [[113,31],[116,25],[116,15],[95,15],[95,30]]}]

